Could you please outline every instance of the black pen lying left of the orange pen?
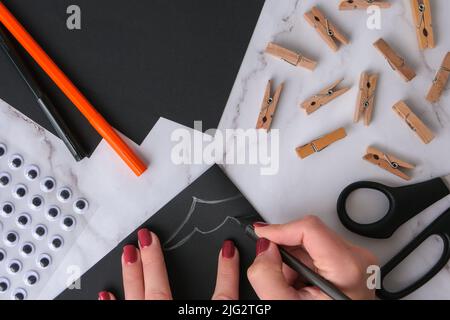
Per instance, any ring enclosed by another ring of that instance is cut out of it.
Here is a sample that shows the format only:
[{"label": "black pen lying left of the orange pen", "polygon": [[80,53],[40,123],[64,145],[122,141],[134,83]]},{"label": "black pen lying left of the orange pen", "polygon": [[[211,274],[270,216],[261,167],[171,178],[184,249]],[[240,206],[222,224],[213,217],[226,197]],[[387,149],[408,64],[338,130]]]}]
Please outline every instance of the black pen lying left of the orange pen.
[{"label": "black pen lying left of the orange pen", "polygon": [[52,127],[55,129],[58,137],[67,146],[75,160],[80,161],[85,158],[86,151],[75,138],[75,135],[64,121],[54,104],[50,101],[47,95],[43,93],[43,90],[34,79],[31,70],[27,67],[19,52],[16,50],[13,42],[10,40],[8,31],[4,29],[2,25],[0,25],[0,46],[16,67],[20,76],[36,98],[38,105],[50,121]]}]

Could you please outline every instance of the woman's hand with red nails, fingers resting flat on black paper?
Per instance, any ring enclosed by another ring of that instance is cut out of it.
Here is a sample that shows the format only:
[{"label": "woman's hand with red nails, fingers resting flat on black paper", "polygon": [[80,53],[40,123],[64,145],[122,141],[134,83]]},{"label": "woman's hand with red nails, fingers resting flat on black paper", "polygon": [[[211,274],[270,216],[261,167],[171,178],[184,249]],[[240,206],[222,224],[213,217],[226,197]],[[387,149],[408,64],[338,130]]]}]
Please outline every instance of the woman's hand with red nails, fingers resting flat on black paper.
[{"label": "woman's hand with red nails, fingers resting flat on black paper", "polygon": [[[164,255],[158,237],[147,229],[139,230],[139,249],[123,248],[122,276],[126,300],[171,300]],[[216,289],[213,300],[239,298],[239,252],[227,240],[219,253]],[[99,300],[115,300],[112,293],[102,291]]]}]

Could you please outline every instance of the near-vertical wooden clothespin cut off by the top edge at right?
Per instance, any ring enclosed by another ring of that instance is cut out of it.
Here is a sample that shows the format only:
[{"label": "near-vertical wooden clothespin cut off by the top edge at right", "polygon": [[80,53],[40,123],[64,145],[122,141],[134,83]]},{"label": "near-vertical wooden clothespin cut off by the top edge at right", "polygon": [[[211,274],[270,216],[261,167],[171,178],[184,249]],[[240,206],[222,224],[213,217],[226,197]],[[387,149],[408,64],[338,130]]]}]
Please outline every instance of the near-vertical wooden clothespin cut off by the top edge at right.
[{"label": "near-vertical wooden clothespin cut off by the top edge at right", "polygon": [[420,49],[434,48],[436,45],[430,0],[411,0],[411,9]]}]

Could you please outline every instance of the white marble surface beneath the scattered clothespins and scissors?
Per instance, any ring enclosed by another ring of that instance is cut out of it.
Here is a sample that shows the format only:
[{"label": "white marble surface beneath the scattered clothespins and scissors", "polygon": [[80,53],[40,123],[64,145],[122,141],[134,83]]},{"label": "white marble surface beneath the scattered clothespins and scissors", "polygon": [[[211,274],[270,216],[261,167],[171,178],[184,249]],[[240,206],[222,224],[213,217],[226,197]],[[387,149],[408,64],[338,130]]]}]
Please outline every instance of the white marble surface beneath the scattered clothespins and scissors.
[{"label": "white marble surface beneath the scattered clothespins and scissors", "polygon": [[[382,263],[450,206],[450,199],[443,199],[404,225],[391,239],[382,241],[346,231],[336,215],[337,197],[352,182],[369,179],[404,185],[402,180],[362,160],[369,145],[417,164],[412,182],[450,173],[449,91],[438,104],[425,100],[436,70],[450,49],[450,37],[445,34],[450,28],[450,2],[432,1],[437,47],[425,52],[418,50],[409,1],[391,2],[392,8],[382,11],[381,29],[369,30],[365,11],[338,11],[337,0],[266,1],[220,124],[221,129],[254,128],[267,81],[273,79],[274,86],[284,81],[285,89],[272,124],[280,132],[279,173],[261,176],[256,165],[225,165],[226,173],[268,221],[286,222],[314,213],[347,239],[373,250]],[[333,53],[303,18],[313,5],[318,5],[350,38],[351,43],[338,53]],[[372,47],[380,37],[416,70],[417,77],[412,82],[405,83]],[[265,55],[264,49],[271,41],[318,60],[317,69],[310,72],[295,68]],[[359,75],[365,70],[380,74],[373,123],[368,128],[352,122]],[[340,78],[345,78],[343,85],[352,86],[351,91],[307,117],[299,103]],[[391,110],[401,99],[436,133],[430,145],[422,144]],[[348,131],[344,141],[305,160],[297,157],[297,146],[340,126]],[[386,203],[371,201],[360,207],[365,210],[358,211],[357,218],[367,221],[368,216],[377,217],[377,211],[385,212]],[[389,279],[389,288],[401,288],[429,269],[441,248],[438,240],[427,241],[396,270]],[[408,298],[449,299],[450,266]]]}]

